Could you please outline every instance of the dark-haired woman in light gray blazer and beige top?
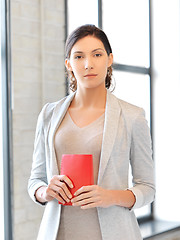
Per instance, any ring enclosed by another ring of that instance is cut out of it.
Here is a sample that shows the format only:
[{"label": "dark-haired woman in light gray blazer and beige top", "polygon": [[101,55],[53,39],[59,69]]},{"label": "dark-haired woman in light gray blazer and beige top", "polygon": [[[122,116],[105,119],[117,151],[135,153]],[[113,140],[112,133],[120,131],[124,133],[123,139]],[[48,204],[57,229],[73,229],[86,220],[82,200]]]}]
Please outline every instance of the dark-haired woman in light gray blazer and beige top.
[{"label": "dark-haired woman in light gray blazer and beige top", "polygon": [[[77,28],[67,39],[73,93],[46,104],[37,123],[28,188],[35,202],[46,205],[38,239],[142,239],[133,210],[154,199],[150,132],[144,111],[108,90],[112,63],[107,36],[94,25]],[[60,164],[62,154],[75,153],[93,155],[95,184],[72,197],[73,184],[61,175]]]}]

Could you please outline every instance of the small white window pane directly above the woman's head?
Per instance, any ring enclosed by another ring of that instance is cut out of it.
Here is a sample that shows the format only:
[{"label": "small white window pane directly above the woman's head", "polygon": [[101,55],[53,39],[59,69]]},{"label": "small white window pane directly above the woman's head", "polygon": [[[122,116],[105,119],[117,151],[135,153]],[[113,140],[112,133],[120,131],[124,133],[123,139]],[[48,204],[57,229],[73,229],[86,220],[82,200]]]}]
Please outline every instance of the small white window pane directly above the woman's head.
[{"label": "small white window pane directly above the woman's head", "polygon": [[68,31],[83,24],[98,25],[98,1],[68,0]]}]

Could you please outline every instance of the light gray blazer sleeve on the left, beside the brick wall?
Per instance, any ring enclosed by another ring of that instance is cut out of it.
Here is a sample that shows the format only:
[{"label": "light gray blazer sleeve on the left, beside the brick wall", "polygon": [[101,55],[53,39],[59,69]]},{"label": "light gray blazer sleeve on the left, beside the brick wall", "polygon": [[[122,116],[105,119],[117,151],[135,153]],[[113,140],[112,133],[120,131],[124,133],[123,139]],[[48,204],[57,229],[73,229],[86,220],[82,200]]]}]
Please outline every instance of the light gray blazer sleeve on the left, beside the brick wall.
[{"label": "light gray blazer sleeve on the left, beside the brick wall", "polygon": [[[38,204],[35,198],[36,190],[41,186],[47,186],[47,173],[46,173],[46,154],[45,154],[45,139],[44,139],[44,119],[45,111],[48,104],[46,104],[41,113],[39,114],[33,152],[33,163],[31,175],[28,181],[28,193],[32,200]],[[41,204],[44,205],[44,204]]]}]

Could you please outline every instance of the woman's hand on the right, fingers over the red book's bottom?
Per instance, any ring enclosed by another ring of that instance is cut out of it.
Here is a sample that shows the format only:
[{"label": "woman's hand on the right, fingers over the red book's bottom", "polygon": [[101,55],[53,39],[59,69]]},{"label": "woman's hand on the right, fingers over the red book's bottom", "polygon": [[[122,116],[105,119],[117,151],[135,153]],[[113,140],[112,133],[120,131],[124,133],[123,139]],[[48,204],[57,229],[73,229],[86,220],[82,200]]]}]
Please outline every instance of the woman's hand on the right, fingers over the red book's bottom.
[{"label": "woman's hand on the right, fingers over the red book's bottom", "polygon": [[71,200],[73,206],[81,206],[82,209],[113,205],[112,191],[103,189],[98,185],[83,186],[75,192]]}]

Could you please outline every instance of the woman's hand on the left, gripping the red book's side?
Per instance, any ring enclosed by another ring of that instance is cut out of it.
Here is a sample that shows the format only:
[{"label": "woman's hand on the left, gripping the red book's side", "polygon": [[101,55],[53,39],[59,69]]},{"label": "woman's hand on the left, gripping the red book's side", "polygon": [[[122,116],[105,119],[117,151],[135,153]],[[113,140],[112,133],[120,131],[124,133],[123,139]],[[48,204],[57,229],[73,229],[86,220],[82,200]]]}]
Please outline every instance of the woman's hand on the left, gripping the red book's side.
[{"label": "woman's hand on the left, gripping the red book's side", "polygon": [[56,198],[62,204],[70,202],[72,194],[69,188],[73,188],[71,180],[65,175],[54,175],[47,187],[37,189],[35,196],[39,202],[49,202]]}]

